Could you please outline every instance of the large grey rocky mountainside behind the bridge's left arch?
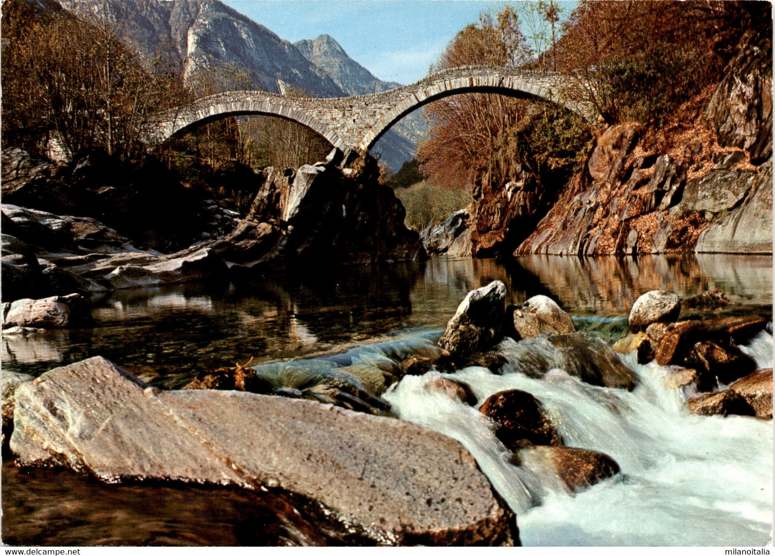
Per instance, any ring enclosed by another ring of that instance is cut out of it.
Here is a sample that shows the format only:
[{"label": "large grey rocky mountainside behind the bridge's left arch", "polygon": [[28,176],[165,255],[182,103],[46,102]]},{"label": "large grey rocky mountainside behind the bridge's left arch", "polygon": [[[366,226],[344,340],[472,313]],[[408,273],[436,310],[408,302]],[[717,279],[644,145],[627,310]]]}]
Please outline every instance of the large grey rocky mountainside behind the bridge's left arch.
[{"label": "large grey rocky mountainside behind the bridge's left arch", "polygon": [[346,96],[329,74],[287,40],[218,0],[61,0],[84,19],[107,11],[145,60],[162,55],[190,76],[218,63],[250,73],[253,87],[281,93],[280,81],[315,97]]}]

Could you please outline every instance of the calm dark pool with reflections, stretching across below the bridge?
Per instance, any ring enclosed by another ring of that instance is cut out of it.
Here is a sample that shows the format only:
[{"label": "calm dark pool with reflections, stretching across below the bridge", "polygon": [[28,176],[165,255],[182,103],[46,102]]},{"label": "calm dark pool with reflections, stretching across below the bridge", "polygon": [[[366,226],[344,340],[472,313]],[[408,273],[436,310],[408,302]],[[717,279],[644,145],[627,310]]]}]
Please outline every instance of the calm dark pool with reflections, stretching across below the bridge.
[{"label": "calm dark pool with reflections, stretching across below the bridge", "polygon": [[122,290],[93,314],[95,328],[5,335],[8,369],[40,374],[103,355],[164,388],[203,369],[289,359],[406,328],[442,328],[474,288],[501,280],[509,302],[542,293],[571,314],[625,316],[641,293],[687,297],[721,289],[748,306],[772,304],[772,257],[438,257],[389,266],[310,267],[294,276],[247,274],[229,285]]}]

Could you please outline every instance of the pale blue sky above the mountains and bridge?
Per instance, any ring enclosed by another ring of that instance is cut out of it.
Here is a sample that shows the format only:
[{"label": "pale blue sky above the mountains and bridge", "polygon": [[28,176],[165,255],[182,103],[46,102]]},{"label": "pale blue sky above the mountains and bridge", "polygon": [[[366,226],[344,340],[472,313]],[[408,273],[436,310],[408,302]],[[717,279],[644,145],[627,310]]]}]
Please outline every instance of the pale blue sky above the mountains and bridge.
[{"label": "pale blue sky above the mountains and bridge", "polygon": [[[488,0],[223,0],[281,38],[327,33],[353,60],[384,81],[422,79],[455,34]],[[567,13],[576,2],[560,2]]]}]

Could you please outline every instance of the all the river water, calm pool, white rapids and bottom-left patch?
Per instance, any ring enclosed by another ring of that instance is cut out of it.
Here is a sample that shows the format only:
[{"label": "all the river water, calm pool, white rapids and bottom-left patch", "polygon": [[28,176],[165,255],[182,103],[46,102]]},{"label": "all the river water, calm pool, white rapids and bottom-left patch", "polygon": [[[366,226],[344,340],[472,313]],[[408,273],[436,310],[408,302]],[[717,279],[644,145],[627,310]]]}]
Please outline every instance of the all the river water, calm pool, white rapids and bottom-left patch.
[{"label": "all the river water, calm pool, white rapids and bottom-left patch", "polygon": [[[381,358],[400,359],[432,349],[432,340],[465,294],[491,280],[506,283],[509,302],[522,303],[538,293],[553,297],[574,317],[577,328],[609,342],[625,333],[632,302],[654,289],[688,297],[718,288],[736,302],[722,312],[763,314],[770,320],[772,315],[771,257],[530,256],[509,266],[494,260],[439,257],[422,264],[315,269],[314,276],[298,278],[308,274],[116,292],[96,304],[94,328],[4,336],[3,366],[38,375],[104,355],[165,388],[181,387],[202,369],[231,366],[251,357],[252,364],[263,369],[285,361],[283,368],[307,365],[322,369],[319,372],[336,372],[355,363],[374,364]],[[743,350],[766,368],[772,366],[772,346],[772,335],[764,331]],[[514,362],[524,346],[504,341],[500,349]],[[332,356],[343,352],[347,355]],[[551,354],[546,355],[551,359]],[[288,363],[299,357],[317,359]],[[439,373],[406,376],[383,397],[398,417],[447,434],[468,448],[517,513],[525,545],[766,544],[772,526],[772,422],[688,414],[680,390],[667,386],[664,369],[653,363],[639,366],[634,359],[625,362],[640,379],[632,392],[580,383],[561,369],[532,379],[514,372],[518,369],[513,363],[506,366],[511,372],[500,376],[477,367],[455,373],[456,379],[470,385],[480,403],[502,390],[532,393],[568,446],[603,451],[618,462],[620,475],[576,495],[568,494],[540,465],[529,461],[512,465],[476,408],[425,390],[425,383]],[[53,488],[46,473],[50,472],[26,472],[4,464],[5,541],[342,542],[314,516],[289,512],[292,500],[257,497],[246,502],[241,493],[192,489],[191,496],[198,502],[181,513],[175,493],[188,487],[95,486],[77,475],[61,473],[67,480],[57,480]],[[101,489],[109,495],[98,496],[95,490]],[[146,500],[140,505],[143,508],[174,507],[168,515],[176,519],[165,520],[167,510],[153,515],[132,510],[138,504],[127,501],[138,496]],[[24,500],[23,512],[13,510],[19,499]],[[73,505],[81,513],[111,516],[115,527],[106,531],[97,519],[80,528],[65,527],[63,532],[63,516]],[[217,519],[202,510],[210,506],[220,509]],[[260,515],[251,523],[265,523],[263,528],[254,526],[250,534],[245,533],[244,520],[236,518],[247,506],[258,508],[251,511]],[[220,537],[192,533],[207,523],[226,524],[222,530],[237,533]],[[68,536],[67,530],[77,534]],[[143,535],[142,531],[150,532]]]}]

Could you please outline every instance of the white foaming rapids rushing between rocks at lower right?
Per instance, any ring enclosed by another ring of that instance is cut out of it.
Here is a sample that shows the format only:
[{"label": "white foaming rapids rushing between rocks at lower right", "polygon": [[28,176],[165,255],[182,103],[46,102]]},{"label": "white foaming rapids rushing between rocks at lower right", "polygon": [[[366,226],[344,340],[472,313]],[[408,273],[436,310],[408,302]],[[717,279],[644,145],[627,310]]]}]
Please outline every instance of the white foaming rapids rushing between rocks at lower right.
[{"label": "white foaming rapids rushing between rocks at lower right", "polygon": [[[508,358],[515,342],[501,344]],[[773,337],[746,346],[760,368],[772,366]],[[384,394],[401,419],[460,441],[517,514],[525,546],[762,546],[772,530],[772,421],[698,417],[684,407],[667,370],[624,358],[640,384],[627,392],[591,386],[553,369],[532,379],[505,366],[453,376],[479,403],[503,390],[524,390],[541,402],[570,447],[605,452],[622,468],[576,495],[553,473],[516,467],[478,412],[425,385],[438,372],[406,376]]]}]

